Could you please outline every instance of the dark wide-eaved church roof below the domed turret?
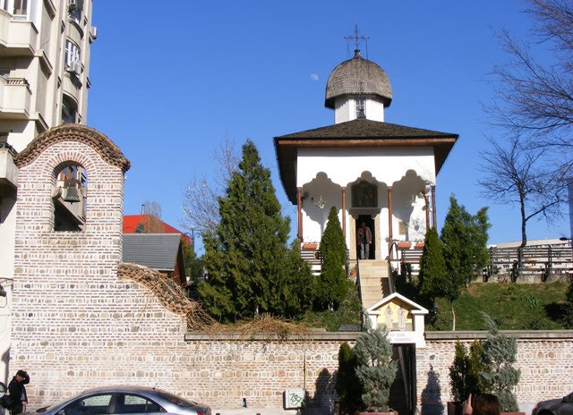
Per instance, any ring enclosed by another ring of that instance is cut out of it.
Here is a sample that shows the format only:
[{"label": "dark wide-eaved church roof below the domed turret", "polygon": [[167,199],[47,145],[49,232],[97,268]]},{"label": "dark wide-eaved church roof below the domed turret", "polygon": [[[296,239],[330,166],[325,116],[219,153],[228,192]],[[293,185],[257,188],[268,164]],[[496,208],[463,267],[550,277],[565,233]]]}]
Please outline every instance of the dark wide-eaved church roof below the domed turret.
[{"label": "dark wide-eaved church roof below the domed turret", "polygon": [[364,148],[432,146],[436,174],[446,161],[458,134],[424,130],[393,123],[357,118],[312,130],[275,137],[280,180],[288,199],[296,204],[296,155],[298,148]]}]

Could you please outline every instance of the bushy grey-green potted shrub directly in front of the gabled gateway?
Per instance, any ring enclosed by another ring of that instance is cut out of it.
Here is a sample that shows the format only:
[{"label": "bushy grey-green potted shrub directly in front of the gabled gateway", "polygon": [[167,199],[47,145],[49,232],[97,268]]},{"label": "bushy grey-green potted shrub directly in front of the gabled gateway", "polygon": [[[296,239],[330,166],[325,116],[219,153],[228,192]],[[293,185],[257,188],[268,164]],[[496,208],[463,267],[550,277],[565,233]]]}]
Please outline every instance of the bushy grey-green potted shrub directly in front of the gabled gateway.
[{"label": "bushy grey-green potted shrub directly in front of the gabled gateway", "polygon": [[386,330],[370,330],[358,336],[355,345],[356,377],[363,386],[363,414],[397,414],[388,406],[390,386],[398,363],[392,360],[392,345]]}]

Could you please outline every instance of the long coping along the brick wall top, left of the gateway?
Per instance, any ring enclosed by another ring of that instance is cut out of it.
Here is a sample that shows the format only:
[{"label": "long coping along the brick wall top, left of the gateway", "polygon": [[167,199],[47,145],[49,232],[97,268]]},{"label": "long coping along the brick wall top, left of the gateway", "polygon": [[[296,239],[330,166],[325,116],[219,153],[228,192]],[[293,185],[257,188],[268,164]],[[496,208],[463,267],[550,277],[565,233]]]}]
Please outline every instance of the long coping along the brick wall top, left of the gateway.
[{"label": "long coping along the brick wall top, left of the gateway", "polygon": [[205,334],[205,333],[186,333],[184,336],[185,342],[220,342],[237,341],[237,342],[340,342],[348,341],[354,342],[356,337],[362,332],[327,332],[327,331],[312,331],[304,335],[288,335],[286,337],[274,334],[269,335],[245,335],[241,333],[218,333],[218,334]]}]

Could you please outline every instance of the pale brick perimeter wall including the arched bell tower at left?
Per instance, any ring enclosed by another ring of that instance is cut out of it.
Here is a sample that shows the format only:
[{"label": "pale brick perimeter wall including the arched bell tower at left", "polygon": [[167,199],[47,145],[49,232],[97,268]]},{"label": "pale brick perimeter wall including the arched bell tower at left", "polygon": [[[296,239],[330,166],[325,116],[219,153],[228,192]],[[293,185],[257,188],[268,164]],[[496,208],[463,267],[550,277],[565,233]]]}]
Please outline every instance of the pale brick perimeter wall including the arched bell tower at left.
[{"label": "pale brick perimeter wall including the arched bell tower at left", "polygon": [[[88,175],[81,233],[53,231],[51,190],[67,162]],[[144,285],[118,278],[124,174],[98,148],[57,141],[21,166],[20,183],[10,372],[29,370],[31,410],[116,384],[157,385],[218,408],[238,407],[243,398],[251,407],[280,408],[286,387],[305,387],[315,404],[332,406],[338,347],[354,343],[355,334],[282,342],[186,334],[184,316],[164,308]],[[454,343],[454,336],[434,335],[417,351],[418,399],[428,413],[449,400]],[[573,390],[572,353],[572,333],[521,338],[519,401]]]}]

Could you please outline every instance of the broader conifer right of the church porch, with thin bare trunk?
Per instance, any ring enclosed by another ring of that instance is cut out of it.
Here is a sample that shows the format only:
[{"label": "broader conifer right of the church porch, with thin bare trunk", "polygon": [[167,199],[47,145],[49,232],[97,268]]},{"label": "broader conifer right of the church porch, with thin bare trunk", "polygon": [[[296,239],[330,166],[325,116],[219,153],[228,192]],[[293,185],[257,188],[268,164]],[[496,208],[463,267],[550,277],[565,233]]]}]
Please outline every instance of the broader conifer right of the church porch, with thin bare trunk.
[{"label": "broader conifer right of the church porch, with thin bare trunk", "polygon": [[458,200],[453,195],[449,197],[449,209],[441,229],[441,241],[449,280],[443,296],[449,300],[452,330],[456,330],[454,301],[458,300],[462,288],[480,275],[482,268],[487,265],[486,243],[489,227],[487,207],[472,216],[466,207],[458,205]]}]

